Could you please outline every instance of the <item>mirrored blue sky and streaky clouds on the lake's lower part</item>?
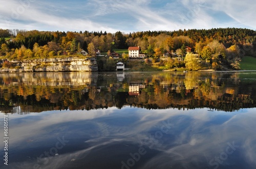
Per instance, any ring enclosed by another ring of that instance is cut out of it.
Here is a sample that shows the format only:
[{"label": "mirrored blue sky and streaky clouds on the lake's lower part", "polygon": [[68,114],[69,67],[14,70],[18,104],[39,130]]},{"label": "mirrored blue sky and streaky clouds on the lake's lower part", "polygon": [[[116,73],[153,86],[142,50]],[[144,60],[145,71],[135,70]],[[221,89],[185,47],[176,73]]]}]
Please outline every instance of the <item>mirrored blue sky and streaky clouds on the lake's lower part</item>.
[{"label": "mirrored blue sky and streaky clouds on the lake's lower part", "polygon": [[256,166],[255,108],[231,114],[125,106],[9,117],[8,168]]}]

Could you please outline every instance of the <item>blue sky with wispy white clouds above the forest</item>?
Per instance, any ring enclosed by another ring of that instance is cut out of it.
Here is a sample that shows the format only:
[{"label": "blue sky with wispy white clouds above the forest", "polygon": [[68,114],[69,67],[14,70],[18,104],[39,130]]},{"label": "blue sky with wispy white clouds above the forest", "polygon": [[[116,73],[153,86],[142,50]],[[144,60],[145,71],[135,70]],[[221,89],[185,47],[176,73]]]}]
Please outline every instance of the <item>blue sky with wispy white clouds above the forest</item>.
[{"label": "blue sky with wispy white clouds above the forest", "polygon": [[0,0],[0,29],[174,31],[256,29],[254,0]]}]

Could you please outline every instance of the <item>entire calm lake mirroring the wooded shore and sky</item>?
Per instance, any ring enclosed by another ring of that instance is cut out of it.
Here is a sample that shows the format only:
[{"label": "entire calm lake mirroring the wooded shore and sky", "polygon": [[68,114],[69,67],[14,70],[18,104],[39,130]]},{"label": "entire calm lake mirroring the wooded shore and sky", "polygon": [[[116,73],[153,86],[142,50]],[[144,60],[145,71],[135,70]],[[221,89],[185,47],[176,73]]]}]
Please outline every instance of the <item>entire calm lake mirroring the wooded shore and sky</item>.
[{"label": "entire calm lake mirroring the wooded shore and sky", "polygon": [[0,168],[256,168],[256,72],[6,73],[0,102]]}]

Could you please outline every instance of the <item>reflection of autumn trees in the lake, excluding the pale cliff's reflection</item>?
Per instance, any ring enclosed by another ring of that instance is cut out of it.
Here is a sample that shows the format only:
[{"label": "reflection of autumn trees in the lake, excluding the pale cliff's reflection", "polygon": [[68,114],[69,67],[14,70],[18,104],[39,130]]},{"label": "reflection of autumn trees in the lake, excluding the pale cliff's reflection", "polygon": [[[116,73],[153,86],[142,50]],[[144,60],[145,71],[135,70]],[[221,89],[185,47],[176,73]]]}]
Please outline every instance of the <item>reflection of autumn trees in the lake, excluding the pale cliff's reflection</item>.
[{"label": "reflection of autumn trees in the lake, excluding the pale cliff's reflection", "polygon": [[[17,80],[16,80],[17,81]],[[123,82],[103,78],[101,87],[96,85],[39,86],[2,85],[0,104],[8,112],[13,106],[23,111],[40,112],[61,109],[100,109],[135,106],[147,109],[194,109],[208,107],[217,110],[234,111],[255,107],[256,87],[254,82],[241,84],[238,74],[159,73],[158,76],[129,75]],[[12,82],[12,81],[9,81]],[[129,94],[129,84],[139,92]]]}]

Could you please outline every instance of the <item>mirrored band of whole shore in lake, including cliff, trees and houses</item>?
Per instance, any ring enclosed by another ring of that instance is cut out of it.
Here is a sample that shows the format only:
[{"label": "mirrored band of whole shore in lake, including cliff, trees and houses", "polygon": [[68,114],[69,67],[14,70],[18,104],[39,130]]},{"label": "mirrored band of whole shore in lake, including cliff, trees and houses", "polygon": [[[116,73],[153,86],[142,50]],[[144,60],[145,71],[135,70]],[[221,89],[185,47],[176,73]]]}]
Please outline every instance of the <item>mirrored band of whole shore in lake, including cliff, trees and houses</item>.
[{"label": "mirrored band of whole shore in lake, including cliff, trees and houses", "polygon": [[0,110],[23,114],[129,105],[234,111],[256,107],[255,79],[254,73],[0,74]]}]

